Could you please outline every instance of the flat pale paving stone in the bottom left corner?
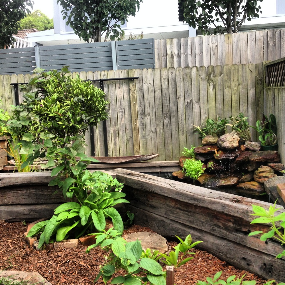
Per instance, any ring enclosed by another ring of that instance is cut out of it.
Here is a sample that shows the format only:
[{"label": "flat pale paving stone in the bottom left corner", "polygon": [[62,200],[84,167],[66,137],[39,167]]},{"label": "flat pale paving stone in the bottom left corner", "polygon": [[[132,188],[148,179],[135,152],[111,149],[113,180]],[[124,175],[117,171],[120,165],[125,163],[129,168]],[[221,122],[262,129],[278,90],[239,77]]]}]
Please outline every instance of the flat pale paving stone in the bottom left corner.
[{"label": "flat pale paving stone in the bottom left corner", "polygon": [[[50,282],[46,281],[42,275],[38,272],[28,272],[28,271],[1,271],[0,278],[7,278],[9,281],[23,281],[23,284],[38,284],[38,285],[52,285]],[[27,282],[27,283],[26,283]],[[2,283],[1,283],[2,284]]]}]

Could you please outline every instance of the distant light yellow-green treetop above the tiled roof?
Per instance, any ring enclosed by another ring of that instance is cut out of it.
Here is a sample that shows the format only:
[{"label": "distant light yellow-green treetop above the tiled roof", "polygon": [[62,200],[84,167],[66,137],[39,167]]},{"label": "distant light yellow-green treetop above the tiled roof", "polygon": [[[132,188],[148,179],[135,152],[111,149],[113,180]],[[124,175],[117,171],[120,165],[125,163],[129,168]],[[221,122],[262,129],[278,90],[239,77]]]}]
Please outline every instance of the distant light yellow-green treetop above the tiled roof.
[{"label": "distant light yellow-green treetop above the tiled roof", "polygon": [[40,10],[36,10],[20,21],[21,30],[34,29],[45,31],[53,29],[53,20],[49,19]]}]

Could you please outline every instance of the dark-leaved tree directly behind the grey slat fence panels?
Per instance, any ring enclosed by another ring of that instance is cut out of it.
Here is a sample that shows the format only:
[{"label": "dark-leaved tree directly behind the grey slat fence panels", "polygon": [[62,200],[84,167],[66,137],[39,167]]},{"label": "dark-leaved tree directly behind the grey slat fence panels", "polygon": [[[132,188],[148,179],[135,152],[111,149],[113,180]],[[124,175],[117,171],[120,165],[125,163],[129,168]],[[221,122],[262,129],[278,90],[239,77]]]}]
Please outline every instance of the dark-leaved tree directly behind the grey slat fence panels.
[{"label": "dark-leaved tree directly behind the grey slat fence panels", "polygon": [[63,19],[86,42],[101,42],[104,32],[111,40],[120,39],[121,25],[135,16],[142,0],[57,0]]}]

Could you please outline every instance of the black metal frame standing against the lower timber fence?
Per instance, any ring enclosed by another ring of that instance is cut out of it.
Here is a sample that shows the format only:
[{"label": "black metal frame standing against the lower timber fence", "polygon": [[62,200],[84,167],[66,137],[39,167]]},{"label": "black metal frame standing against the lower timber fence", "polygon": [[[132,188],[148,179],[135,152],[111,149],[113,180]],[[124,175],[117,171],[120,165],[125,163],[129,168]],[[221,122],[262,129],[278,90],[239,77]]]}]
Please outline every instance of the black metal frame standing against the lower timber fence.
[{"label": "black metal frame standing against the lower timber fence", "polygon": [[[112,80],[134,80],[139,79],[139,77],[122,77],[122,78],[102,78],[102,79],[94,79],[94,80],[84,80],[84,81],[90,81],[90,82],[99,82],[100,88],[102,91],[104,91],[104,81],[112,81]],[[14,87],[15,91],[15,105],[20,104],[20,98],[19,98],[19,84],[28,84],[25,83],[11,83]],[[106,120],[103,121],[103,138],[104,138],[104,148],[105,148],[105,156],[109,156],[108,152],[108,136],[107,136],[107,123]],[[91,156],[95,156],[95,139],[94,139],[94,130],[90,128],[90,147],[91,147]]]}]

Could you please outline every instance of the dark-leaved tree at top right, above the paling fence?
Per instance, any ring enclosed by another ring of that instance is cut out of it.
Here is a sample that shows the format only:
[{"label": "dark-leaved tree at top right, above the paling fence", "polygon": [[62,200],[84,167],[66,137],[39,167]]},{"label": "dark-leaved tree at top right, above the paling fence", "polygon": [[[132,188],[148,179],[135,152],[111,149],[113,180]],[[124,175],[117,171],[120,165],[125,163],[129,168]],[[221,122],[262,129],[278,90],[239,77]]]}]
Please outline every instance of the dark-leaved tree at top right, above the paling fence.
[{"label": "dark-leaved tree at top right, above the paling fence", "polygon": [[[262,0],[178,0],[183,3],[184,21],[203,34],[235,33],[245,20],[258,18]],[[224,28],[217,22],[222,21]],[[211,29],[210,24],[215,27]]]}]

